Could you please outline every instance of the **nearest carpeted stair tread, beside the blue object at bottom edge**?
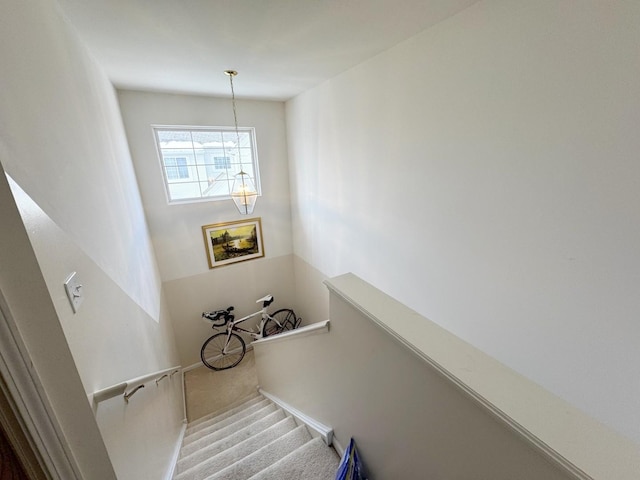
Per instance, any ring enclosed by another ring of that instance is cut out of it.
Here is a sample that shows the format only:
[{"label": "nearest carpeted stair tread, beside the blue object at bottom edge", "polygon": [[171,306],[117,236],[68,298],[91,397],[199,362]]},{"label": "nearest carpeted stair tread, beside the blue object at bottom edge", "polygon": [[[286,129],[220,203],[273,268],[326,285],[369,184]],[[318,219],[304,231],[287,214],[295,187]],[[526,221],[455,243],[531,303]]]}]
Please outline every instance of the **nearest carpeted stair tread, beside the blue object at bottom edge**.
[{"label": "nearest carpeted stair tread, beside the blue object at bottom edge", "polygon": [[338,454],[321,438],[314,438],[250,480],[333,480],[339,463]]}]

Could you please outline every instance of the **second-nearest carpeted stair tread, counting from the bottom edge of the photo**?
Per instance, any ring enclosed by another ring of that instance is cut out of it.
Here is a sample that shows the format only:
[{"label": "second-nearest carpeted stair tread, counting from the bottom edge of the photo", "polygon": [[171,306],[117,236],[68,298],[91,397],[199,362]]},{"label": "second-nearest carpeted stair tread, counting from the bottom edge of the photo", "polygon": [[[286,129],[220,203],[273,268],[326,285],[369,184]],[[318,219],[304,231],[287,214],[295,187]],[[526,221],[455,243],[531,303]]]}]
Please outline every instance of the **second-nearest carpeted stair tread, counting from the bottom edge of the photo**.
[{"label": "second-nearest carpeted stair tread, counting from the bottom edge of the photo", "polygon": [[[218,473],[205,477],[206,480],[244,480],[260,470],[287,456],[298,447],[311,440],[311,435],[304,425],[296,427],[277,440],[265,445],[242,460],[223,468]],[[199,477],[194,477],[199,478]],[[274,477],[277,478],[277,477]]]}]

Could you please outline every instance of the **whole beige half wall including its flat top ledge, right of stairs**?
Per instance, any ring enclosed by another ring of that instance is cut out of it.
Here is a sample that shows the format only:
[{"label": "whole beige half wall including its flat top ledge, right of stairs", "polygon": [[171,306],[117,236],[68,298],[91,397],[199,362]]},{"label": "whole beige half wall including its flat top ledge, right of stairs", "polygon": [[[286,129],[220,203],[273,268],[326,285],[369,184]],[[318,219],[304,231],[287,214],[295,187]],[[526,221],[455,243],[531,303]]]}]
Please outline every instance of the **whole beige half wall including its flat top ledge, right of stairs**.
[{"label": "whole beige half wall including its flat top ledge, right of stairs", "polygon": [[263,390],[336,429],[339,453],[356,438],[385,478],[638,478],[630,439],[355,275],[324,283],[330,334],[254,342],[255,362]]}]

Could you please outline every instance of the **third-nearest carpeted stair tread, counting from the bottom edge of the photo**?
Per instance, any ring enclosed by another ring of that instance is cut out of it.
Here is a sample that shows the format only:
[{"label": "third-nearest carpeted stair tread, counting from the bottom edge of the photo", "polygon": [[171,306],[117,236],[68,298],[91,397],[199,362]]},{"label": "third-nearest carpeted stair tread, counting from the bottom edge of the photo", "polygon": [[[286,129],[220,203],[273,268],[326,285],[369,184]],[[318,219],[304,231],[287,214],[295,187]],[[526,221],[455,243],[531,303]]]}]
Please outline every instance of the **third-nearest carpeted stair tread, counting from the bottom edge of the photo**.
[{"label": "third-nearest carpeted stair tread, counting from the bottom edge of the photo", "polygon": [[[280,410],[280,412],[282,411]],[[185,462],[183,465],[183,468],[187,465],[188,468],[181,469],[181,473],[177,475],[175,479],[191,480],[193,478],[206,478],[211,476],[219,470],[242,460],[295,428],[297,428],[295,420],[291,417],[285,417],[275,425],[246,438],[242,442],[230,445],[230,448],[222,450],[217,454],[210,453],[209,455],[200,455],[201,452],[198,451],[188,457],[188,463]],[[215,445],[223,443],[225,440],[226,439],[216,442]]]}]

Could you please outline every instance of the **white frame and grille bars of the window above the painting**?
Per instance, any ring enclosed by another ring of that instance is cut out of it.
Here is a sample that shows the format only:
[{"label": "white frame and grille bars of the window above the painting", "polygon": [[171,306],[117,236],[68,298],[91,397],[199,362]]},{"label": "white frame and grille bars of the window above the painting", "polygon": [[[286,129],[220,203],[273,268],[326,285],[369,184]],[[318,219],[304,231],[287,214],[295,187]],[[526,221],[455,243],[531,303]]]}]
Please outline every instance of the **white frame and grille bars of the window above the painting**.
[{"label": "white frame and grille bars of the window above the painting", "polygon": [[[229,193],[227,194],[222,194],[222,195],[204,195],[206,194],[207,189],[202,190],[202,183],[204,183],[203,179],[198,177],[198,169],[204,169],[207,173],[210,172],[211,170],[215,170],[216,172],[220,172],[221,174],[224,174],[224,172],[229,172],[230,170],[234,170],[235,169],[241,169],[243,164],[247,164],[247,162],[242,162],[242,159],[240,160],[241,163],[238,162],[231,162],[231,158],[230,156],[232,155],[236,155],[237,149],[235,147],[222,147],[222,149],[228,148],[228,151],[224,152],[224,155],[216,155],[218,157],[228,157],[228,165],[229,167],[227,168],[217,168],[215,161],[211,164],[199,164],[198,160],[197,160],[197,155],[196,155],[196,149],[194,147],[192,147],[192,150],[194,152],[193,154],[193,158],[195,159],[194,162],[195,163],[189,163],[189,161],[187,160],[187,165],[186,168],[189,171],[189,175],[194,175],[194,179],[191,181],[185,181],[184,178],[182,178],[180,175],[178,175],[177,178],[169,178],[168,174],[167,174],[167,165],[165,165],[164,162],[164,157],[163,157],[163,149],[162,146],[160,145],[160,140],[159,140],[159,136],[158,136],[158,132],[161,131],[177,131],[177,132],[207,132],[207,131],[212,131],[212,132],[223,132],[226,134],[235,134],[236,130],[235,127],[211,127],[211,126],[193,126],[193,125],[151,125],[151,128],[153,130],[153,137],[155,140],[155,144],[156,144],[156,151],[157,151],[157,155],[158,155],[158,165],[160,167],[160,171],[161,171],[161,176],[162,176],[162,181],[164,183],[164,190],[165,190],[165,195],[166,195],[166,199],[167,199],[167,203],[169,205],[180,205],[180,204],[186,204],[186,203],[200,203],[200,202],[215,202],[215,201],[221,201],[221,200],[229,200],[231,199],[231,188],[233,186],[233,177],[234,177],[234,173],[229,173],[229,175],[227,175],[224,179],[221,179],[221,181],[226,182],[227,186],[228,186],[228,191]],[[238,132],[241,134],[249,134],[249,139],[250,139],[250,143],[251,143],[251,156],[252,156],[252,167],[253,167],[253,177],[252,180],[256,186],[256,189],[258,191],[258,195],[261,196],[262,195],[262,190],[260,188],[260,170],[259,170],[259,166],[258,166],[258,151],[257,151],[257,146],[256,146],[256,136],[255,136],[255,128],[253,127],[238,127]],[[246,147],[244,147],[246,148]],[[187,149],[185,147],[185,149]],[[174,158],[174,159],[178,159],[178,158],[185,158],[185,154],[183,153],[179,153],[178,151],[176,151],[175,155],[170,156],[169,158]],[[211,169],[208,167],[212,167]],[[169,165],[169,168],[173,168],[175,169],[177,172],[179,171],[181,167],[180,165],[176,164],[175,165]],[[236,172],[237,173],[237,172]],[[188,197],[188,198],[172,198],[171,195],[171,189],[170,189],[170,185],[175,185],[175,183],[185,183],[185,184],[198,184],[200,185],[200,196],[192,196],[192,197]]]}]

